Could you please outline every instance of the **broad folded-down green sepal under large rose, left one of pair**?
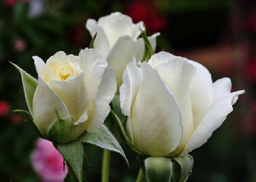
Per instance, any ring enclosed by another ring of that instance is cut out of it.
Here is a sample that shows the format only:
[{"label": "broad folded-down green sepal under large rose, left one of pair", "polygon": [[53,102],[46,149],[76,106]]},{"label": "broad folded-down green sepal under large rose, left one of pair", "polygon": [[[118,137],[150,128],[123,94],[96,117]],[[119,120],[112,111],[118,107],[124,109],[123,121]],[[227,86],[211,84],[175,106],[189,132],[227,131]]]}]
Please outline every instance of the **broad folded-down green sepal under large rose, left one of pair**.
[{"label": "broad folded-down green sepal under large rose, left one of pair", "polygon": [[146,178],[148,182],[170,182],[172,162],[169,158],[150,157],[145,160]]}]

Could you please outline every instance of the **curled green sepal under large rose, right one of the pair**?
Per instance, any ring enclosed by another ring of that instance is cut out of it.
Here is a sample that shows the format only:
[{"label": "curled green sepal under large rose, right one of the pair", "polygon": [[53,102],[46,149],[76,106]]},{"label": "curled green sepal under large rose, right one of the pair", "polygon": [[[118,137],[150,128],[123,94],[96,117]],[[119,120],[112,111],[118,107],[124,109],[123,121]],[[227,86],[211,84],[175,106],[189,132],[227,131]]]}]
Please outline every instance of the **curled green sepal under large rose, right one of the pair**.
[{"label": "curled green sepal under large rose, right one of the pair", "polygon": [[176,156],[172,158],[174,161],[173,180],[175,182],[183,182],[188,179],[192,172],[193,157],[189,154],[184,156]]}]

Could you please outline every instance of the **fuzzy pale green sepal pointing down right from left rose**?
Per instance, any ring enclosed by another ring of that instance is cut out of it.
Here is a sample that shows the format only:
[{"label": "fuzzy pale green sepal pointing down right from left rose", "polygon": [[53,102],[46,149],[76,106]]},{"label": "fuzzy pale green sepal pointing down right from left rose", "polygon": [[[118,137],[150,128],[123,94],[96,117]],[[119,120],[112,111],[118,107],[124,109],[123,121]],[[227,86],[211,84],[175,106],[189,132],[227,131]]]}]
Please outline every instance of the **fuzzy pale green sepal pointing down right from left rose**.
[{"label": "fuzzy pale green sepal pointing down right from left rose", "polygon": [[122,147],[119,145],[117,139],[115,139],[113,134],[109,131],[108,128],[106,128],[105,125],[103,125],[101,129],[98,129],[95,132],[84,132],[78,139],[81,142],[91,143],[93,145],[102,147],[103,149],[108,149],[121,154],[129,166],[129,162],[126,159]]}]

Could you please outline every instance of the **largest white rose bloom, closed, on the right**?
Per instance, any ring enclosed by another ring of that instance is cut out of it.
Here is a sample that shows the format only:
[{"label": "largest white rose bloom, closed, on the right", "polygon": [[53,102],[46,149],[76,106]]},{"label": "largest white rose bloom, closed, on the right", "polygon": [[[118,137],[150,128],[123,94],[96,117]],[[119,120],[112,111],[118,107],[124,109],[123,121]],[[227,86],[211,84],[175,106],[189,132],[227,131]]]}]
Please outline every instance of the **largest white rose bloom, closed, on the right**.
[{"label": "largest white rose bloom, closed, on the right", "polygon": [[160,52],[131,62],[123,74],[121,108],[134,147],[172,158],[200,147],[233,111],[238,95],[229,78],[212,82],[201,64]]}]

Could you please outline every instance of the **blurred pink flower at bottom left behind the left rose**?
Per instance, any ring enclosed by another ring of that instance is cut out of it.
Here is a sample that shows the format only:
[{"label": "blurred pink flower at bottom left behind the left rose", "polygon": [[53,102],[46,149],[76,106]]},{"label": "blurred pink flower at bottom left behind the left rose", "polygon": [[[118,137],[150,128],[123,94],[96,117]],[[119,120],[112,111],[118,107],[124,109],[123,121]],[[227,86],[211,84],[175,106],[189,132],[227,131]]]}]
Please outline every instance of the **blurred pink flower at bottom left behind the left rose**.
[{"label": "blurred pink flower at bottom left behind the left rose", "polygon": [[65,166],[64,173],[63,158],[52,145],[52,142],[38,138],[36,149],[31,154],[31,159],[34,170],[38,172],[44,182],[64,181],[68,168]]}]

